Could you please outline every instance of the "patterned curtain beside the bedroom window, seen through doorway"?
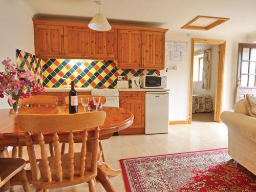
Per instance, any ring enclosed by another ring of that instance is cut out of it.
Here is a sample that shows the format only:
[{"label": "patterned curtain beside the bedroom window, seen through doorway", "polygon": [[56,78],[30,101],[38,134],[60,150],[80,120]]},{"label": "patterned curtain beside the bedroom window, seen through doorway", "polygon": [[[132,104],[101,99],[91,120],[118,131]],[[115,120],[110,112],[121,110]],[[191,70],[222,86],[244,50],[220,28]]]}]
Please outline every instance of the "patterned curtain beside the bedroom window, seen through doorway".
[{"label": "patterned curtain beside the bedroom window, seen through doorway", "polygon": [[202,89],[210,89],[210,49],[204,51]]}]

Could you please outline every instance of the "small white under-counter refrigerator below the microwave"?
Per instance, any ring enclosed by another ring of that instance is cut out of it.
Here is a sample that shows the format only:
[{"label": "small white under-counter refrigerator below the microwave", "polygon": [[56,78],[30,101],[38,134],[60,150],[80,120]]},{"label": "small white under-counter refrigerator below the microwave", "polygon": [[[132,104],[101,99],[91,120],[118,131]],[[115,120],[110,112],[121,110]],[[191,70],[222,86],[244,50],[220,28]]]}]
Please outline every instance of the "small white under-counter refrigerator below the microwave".
[{"label": "small white under-counter refrigerator below the microwave", "polygon": [[169,92],[146,92],[145,97],[145,134],[168,133]]}]

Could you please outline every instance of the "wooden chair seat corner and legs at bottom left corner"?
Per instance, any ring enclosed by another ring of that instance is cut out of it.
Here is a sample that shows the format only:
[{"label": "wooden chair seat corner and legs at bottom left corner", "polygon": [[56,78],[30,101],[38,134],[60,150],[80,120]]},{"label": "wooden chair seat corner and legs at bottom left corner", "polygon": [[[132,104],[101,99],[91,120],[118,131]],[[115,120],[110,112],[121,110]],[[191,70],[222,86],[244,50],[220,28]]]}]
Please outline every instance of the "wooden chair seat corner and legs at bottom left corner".
[{"label": "wooden chair seat corner and legs at bottom left corner", "polygon": [[11,188],[13,178],[18,175],[20,184],[23,185],[25,192],[30,192],[30,186],[24,167],[24,159],[0,158],[0,191],[6,191]]}]

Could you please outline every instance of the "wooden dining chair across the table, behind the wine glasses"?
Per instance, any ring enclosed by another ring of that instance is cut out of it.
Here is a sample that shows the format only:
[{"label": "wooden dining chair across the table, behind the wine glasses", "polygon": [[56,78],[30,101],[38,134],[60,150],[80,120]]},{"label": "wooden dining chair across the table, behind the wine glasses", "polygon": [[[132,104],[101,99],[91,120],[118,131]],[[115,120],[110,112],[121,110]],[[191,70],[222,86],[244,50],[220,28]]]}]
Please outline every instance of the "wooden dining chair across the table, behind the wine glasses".
[{"label": "wooden dining chair across the table, behind the wine glasses", "polygon": [[[89,100],[93,100],[93,97],[100,97],[100,102],[102,104],[105,104],[106,102],[106,97],[104,96],[97,96],[97,95],[78,95],[78,104],[81,104],[81,98],[84,98],[84,99],[87,99],[89,98]],[[66,105],[69,105],[69,96],[65,97],[65,102],[66,102]],[[105,156],[104,156],[104,152],[103,152],[103,146],[102,146],[102,142],[101,140],[99,141],[99,148],[100,148],[100,154],[101,154],[101,158],[102,158],[102,161],[105,162]],[[61,146],[61,153],[63,154],[65,152],[65,143],[62,143],[62,146]]]}]

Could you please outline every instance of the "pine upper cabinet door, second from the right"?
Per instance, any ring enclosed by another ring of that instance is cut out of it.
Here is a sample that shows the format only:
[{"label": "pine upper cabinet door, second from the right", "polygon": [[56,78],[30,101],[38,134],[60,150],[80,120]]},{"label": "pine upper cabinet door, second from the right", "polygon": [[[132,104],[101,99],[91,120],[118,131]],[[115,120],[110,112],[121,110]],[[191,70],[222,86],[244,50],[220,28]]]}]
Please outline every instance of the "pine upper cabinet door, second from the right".
[{"label": "pine upper cabinet door, second from the right", "polygon": [[141,66],[142,32],[118,30],[118,68],[136,69]]}]

